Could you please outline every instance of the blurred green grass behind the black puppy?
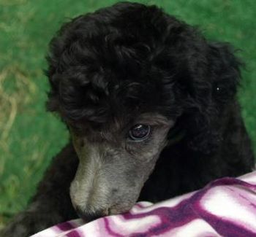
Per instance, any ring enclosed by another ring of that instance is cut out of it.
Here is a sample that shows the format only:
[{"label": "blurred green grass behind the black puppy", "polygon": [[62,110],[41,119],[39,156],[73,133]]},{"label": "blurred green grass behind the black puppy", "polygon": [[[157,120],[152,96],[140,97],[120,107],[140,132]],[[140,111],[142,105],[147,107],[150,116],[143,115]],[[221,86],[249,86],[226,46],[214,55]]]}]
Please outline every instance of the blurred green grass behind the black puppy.
[{"label": "blurred green grass behind the black puppy", "polygon": [[[45,112],[48,42],[61,23],[113,0],[0,0],[0,226],[25,208],[50,159],[67,141],[64,125]],[[256,147],[256,1],[162,0],[167,12],[208,39],[231,42],[246,62],[239,93]]]}]

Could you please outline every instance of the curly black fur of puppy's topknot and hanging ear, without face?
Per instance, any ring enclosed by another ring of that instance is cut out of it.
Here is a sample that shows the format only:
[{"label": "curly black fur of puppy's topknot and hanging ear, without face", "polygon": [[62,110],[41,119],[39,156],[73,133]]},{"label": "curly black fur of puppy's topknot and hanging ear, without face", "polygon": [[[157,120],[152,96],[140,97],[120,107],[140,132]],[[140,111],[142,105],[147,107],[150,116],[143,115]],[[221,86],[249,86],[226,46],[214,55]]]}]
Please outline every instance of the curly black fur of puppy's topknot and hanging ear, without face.
[{"label": "curly black fur of puppy's topknot and hanging ear, without face", "polygon": [[64,25],[50,49],[48,109],[64,120],[105,124],[138,107],[182,115],[192,149],[219,143],[219,116],[240,79],[228,44],[206,42],[157,7],[117,4]]}]

